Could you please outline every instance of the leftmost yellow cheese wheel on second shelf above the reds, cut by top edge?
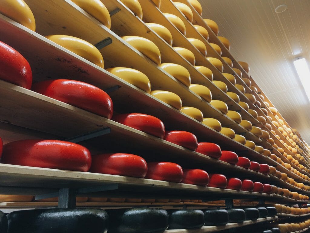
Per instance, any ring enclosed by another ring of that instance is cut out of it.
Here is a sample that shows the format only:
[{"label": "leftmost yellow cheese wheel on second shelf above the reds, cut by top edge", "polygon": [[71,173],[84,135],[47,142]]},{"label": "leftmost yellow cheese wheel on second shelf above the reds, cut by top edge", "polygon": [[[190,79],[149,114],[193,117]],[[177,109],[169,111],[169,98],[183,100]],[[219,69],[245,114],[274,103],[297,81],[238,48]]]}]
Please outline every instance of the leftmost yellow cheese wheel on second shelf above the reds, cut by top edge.
[{"label": "leftmost yellow cheese wheel on second shelf above the reds, cut by top edge", "polygon": [[[72,2],[81,7],[84,11],[93,16],[108,29],[111,29],[110,13],[107,7],[105,7],[100,0],[72,0]],[[137,2],[136,4],[139,4],[139,2]]]}]

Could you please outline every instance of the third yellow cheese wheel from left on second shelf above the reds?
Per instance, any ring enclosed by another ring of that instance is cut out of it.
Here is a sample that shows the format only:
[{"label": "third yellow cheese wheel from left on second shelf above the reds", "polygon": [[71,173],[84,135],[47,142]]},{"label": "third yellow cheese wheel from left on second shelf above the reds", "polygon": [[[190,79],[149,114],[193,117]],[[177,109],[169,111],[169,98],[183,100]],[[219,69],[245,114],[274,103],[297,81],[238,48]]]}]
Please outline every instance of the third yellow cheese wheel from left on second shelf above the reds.
[{"label": "third yellow cheese wheel from left on second shelf above the reds", "polygon": [[175,79],[179,80],[185,86],[189,87],[191,84],[191,76],[184,66],[180,66],[174,63],[162,63],[159,67]]}]

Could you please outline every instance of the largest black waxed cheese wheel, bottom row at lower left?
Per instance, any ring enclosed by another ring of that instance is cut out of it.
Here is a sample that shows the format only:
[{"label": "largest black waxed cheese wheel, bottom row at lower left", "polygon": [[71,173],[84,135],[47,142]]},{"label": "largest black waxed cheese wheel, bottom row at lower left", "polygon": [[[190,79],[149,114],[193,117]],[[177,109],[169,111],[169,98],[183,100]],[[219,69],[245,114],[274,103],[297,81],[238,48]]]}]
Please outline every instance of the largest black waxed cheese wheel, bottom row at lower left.
[{"label": "largest black waxed cheese wheel, bottom row at lower left", "polygon": [[109,218],[107,212],[94,208],[13,211],[7,215],[7,232],[102,233],[108,230]]}]

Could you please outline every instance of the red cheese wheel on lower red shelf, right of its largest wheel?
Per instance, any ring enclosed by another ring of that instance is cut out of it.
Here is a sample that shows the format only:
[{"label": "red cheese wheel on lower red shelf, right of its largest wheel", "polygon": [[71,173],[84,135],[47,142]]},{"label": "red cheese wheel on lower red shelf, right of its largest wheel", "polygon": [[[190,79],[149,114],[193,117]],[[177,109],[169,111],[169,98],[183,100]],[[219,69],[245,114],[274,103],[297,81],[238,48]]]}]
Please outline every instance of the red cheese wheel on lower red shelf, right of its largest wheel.
[{"label": "red cheese wheel on lower red shelf, right of its largest wheel", "polygon": [[107,153],[92,156],[90,172],[144,178],[148,171],[146,161],[138,155]]}]

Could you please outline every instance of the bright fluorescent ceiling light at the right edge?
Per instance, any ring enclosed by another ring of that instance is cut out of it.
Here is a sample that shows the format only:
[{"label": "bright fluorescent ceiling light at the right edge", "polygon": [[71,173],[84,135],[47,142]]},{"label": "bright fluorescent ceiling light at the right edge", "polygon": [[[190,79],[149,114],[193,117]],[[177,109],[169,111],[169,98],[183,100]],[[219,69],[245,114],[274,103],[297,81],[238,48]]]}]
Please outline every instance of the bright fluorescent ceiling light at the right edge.
[{"label": "bright fluorescent ceiling light at the right edge", "polygon": [[303,85],[303,89],[310,100],[310,71],[305,58],[299,58],[294,61],[294,66]]}]

